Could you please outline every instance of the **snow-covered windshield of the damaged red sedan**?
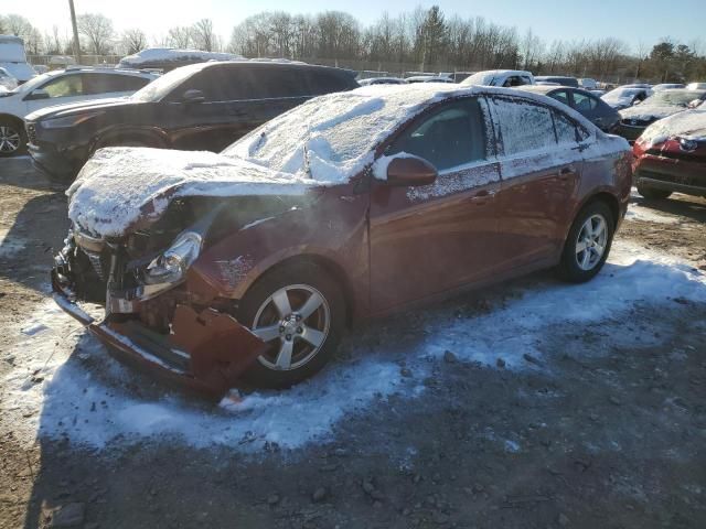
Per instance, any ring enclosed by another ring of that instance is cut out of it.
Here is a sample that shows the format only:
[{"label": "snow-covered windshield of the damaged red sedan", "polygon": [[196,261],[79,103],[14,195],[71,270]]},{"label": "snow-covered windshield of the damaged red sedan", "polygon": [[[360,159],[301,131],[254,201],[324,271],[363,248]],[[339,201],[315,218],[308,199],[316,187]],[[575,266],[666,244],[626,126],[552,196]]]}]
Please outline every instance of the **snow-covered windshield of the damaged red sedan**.
[{"label": "snow-covered windshield of the damaged red sedan", "polygon": [[343,181],[438,94],[439,85],[372,85],[317,97],[228,147],[223,154],[318,181]]}]

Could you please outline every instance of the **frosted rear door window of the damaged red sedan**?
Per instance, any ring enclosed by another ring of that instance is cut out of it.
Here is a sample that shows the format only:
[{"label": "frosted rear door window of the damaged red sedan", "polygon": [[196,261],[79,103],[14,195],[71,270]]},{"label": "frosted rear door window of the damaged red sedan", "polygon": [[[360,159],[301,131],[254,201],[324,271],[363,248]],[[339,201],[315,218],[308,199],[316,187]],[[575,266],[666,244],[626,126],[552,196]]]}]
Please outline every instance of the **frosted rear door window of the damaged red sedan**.
[{"label": "frosted rear door window of the damaged red sedan", "polygon": [[494,97],[491,105],[505,155],[556,145],[554,120],[548,107],[532,101]]}]

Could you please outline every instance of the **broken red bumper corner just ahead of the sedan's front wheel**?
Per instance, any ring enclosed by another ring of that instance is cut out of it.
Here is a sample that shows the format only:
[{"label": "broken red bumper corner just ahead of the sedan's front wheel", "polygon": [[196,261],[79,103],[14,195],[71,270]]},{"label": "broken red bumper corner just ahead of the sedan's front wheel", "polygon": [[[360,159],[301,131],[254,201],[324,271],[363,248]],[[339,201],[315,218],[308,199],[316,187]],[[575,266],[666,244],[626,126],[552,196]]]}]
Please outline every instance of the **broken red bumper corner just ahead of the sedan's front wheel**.
[{"label": "broken red bumper corner just ahead of the sedan's front wheel", "polygon": [[171,342],[191,357],[191,373],[206,385],[224,390],[267,349],[265,343],[234,317],[205,309],[196,313],[179,305]]}]

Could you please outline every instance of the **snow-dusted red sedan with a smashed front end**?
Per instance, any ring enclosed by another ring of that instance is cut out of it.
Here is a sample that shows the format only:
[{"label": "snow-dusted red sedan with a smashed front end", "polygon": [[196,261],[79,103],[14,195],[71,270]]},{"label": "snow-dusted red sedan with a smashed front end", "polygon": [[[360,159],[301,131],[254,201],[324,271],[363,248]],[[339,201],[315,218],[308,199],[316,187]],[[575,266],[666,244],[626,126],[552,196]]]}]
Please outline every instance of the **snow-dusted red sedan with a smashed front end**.
[{"label": "snow-dusted red sedan with a smashed front end", "polygon": [[68,192],[53,285],[121,357],[215,393],[242,376],[289,386],[362,319],[543,268],[590,280],[630,162],[622,138],[545,96],[360,88],[221,154],[98,151]]}]

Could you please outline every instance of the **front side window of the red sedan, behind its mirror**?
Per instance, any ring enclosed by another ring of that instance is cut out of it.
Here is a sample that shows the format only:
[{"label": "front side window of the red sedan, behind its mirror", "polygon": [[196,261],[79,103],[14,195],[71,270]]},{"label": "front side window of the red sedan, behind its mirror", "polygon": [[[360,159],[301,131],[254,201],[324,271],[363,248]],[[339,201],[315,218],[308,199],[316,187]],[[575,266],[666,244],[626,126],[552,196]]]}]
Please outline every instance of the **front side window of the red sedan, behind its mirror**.
[{"label": "front side window of the red sedan, behind its mirror", "polygon": [[485,130],[477,98],[443,105],[411,125],[387,150],[429,161],[438,171],[486,158]]}]

